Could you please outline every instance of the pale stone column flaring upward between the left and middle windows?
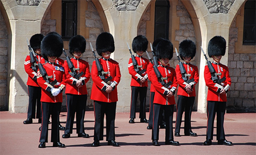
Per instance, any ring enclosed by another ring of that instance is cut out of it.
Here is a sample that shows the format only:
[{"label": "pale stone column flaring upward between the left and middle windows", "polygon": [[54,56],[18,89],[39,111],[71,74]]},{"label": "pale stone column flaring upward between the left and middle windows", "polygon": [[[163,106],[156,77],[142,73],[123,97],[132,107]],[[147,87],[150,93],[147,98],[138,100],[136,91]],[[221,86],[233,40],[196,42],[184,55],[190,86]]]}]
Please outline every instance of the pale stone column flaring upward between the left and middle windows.
[{"label": "pale stone column flaring upward between the left and middle windows", "polygon": [[150,1],[143,1],[143,4],[136,1],[138,2],[137,7],[136,5],[131,5],[131,3],[129,3],[129,5],[125,2],[118,2],[122,1],[116,1],[115,4],[113,4],[112,1],[100,1],[106,19],[108,20],[109,31],[114,36],[115,40],[115,52],[112,54],[112,58],[119,62],[122,75],[121,82],[117,87],[117,111],[129,112],[131,100],[131,76],[127,65],[131,56],[126,42],[131,48],[133,38],[137,36],[139,20]]}]

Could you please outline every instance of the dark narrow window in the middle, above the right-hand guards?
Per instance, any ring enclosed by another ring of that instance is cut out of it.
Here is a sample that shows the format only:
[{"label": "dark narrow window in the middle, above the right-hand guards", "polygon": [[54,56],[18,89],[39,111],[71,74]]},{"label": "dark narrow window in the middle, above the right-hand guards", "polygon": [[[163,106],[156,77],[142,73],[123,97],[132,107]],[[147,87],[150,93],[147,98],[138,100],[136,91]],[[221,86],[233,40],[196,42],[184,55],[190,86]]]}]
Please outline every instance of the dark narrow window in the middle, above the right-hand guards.
[{"label": "dark narrow window in the middle, above the right-hand guards", "polygon": [[170,2],[168,0],[155,1],[154,39],[159,37],[169,39],[169,10]]}]

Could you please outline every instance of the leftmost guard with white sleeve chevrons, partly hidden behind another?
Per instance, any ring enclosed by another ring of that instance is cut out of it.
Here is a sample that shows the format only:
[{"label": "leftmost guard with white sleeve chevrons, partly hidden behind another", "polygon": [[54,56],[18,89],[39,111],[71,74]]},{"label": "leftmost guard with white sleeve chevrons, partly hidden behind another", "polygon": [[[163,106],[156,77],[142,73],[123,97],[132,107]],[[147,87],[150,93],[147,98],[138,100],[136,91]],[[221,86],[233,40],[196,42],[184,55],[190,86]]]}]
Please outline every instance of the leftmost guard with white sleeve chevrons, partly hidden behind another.
[{"label": "leftmost guard with white sleeve chevrons, partly hidden behind another", "polygon": [[[38,63],[44,63],[44,58],[41,56],[41,41],[43,39],[42,34],[35,34],[30,38],[30,46],[35,52],[35,60],[37,59]],[[32,53],[31,53],[32,54]],[[27,110],[27,119],[23,121],[23,124],[31,124],[32,119],[37,118],[38,123],[42,122],[42,112],[41,112],[41,87],[36,81],[36,75],[38,72],[38,66],[32,64],[30,60],[30,55],[26,57],[24,62],[24,68],[28,74],[27,87],[28,87],[28,110]],[[36,115],[35,115],[36,114]]]}]

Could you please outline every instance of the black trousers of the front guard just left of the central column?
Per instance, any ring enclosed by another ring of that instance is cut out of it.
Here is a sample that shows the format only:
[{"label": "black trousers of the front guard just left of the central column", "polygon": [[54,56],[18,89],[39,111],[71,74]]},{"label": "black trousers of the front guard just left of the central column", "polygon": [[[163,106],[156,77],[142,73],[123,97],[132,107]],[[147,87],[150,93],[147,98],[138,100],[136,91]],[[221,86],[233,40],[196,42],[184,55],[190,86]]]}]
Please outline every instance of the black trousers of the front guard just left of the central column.
[{"label": "black trousers of the front guard just left of the central column", "polygon": [[106,115],[106,141],[115,140],[115,110],[117,102],[94,100],[94,141],[103,140],[104,115]]}]

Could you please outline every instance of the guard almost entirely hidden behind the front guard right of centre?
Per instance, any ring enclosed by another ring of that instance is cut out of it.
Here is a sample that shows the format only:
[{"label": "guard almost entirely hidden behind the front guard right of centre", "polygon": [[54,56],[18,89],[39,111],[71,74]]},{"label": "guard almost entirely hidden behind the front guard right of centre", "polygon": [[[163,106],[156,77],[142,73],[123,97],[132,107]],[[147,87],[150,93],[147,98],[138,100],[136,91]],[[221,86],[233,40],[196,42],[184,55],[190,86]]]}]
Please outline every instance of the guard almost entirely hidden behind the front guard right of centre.
[{"label": "guard almost entirely hidden behind the front guard right of centre", "polygon": [[[158,45],[158,43],[160,41],[164,40],[162,37],[159,37],[158,39],[156,39],[153,44],[152,44],[152,48],[154,52],[154,55],[156,57],[156,45]],[[156,58],[156,60],[158,60],[158,58]],[[159,61],[157,61],[159,65]],[[148,63],[147,65],[147,75],[148,75],[148,79],[151,81],[151,72],[154,72],[153,69],[153,65],[152,63]],[[155,87],[151,84],[150,86],[150,111],[149,111],[149,116],[148,116],[148,126],[147,129],[152,129],[153,128],[153,115],[154,115],[154,109],[153,109],[153,102],[154,102],[154,97],[155,97]],[[163,112],[160,112],[160,114],[163,114]],[[165,128],[166,123],[163,121],[163,115],[160,115],[159,118],[159,122],[160,122],[160,128]],[[162,122],[162,123],[161,123]]]}]

